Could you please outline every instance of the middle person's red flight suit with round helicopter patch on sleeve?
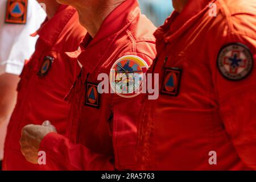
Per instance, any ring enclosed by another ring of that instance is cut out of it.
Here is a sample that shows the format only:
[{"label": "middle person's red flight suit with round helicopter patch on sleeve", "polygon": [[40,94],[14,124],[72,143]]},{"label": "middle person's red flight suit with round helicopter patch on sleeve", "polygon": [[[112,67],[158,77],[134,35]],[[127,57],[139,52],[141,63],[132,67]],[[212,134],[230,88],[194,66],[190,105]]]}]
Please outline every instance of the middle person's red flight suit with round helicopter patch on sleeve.
[{"label": "middle person's red flight suit with round helicopter patch on sleeve", "polygon": [[137,0],[125,1],[107,16],[93,39],[86,35],[79,57],[69,53],[83,69],[67,96],[72,104],[67,136],[49,133],[40,144],[49,169],[137,168],[137,121],[143,94],[123,98],[88,89],[97,88],[98,75],[109,75],[115,61],[125,55],[139,56],[151,65],[156,55],[155,30],[141,15]]}]

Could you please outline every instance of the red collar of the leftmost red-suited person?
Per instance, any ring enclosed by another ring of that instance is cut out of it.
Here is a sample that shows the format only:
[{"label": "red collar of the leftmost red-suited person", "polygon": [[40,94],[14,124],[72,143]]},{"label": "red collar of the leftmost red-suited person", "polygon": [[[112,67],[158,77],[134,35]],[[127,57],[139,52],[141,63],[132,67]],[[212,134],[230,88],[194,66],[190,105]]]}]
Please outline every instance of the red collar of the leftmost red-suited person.
[{"label": "red collar of the leftmost red-suited person", "polygon": [[53,46],[68,20],[75,14],[76,10],[67,5],[60,5],[51,19],[46,19],[38,31],[31,36],[39,35],[48,46]]}]

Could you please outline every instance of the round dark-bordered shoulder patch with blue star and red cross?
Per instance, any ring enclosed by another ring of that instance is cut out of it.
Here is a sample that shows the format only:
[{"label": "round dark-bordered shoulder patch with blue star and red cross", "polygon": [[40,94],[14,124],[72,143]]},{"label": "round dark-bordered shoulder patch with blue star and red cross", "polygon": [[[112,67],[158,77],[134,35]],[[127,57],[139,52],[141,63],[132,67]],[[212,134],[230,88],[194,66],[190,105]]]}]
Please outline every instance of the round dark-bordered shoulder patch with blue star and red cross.
[{"label": "round dark-bordered shoulder patch with blue star and red cross", "polygon": [[253,55],[241,43],[228,44],[218,54],[217,67],[225,78],[238,81],[250,75],[253,70]]}]

